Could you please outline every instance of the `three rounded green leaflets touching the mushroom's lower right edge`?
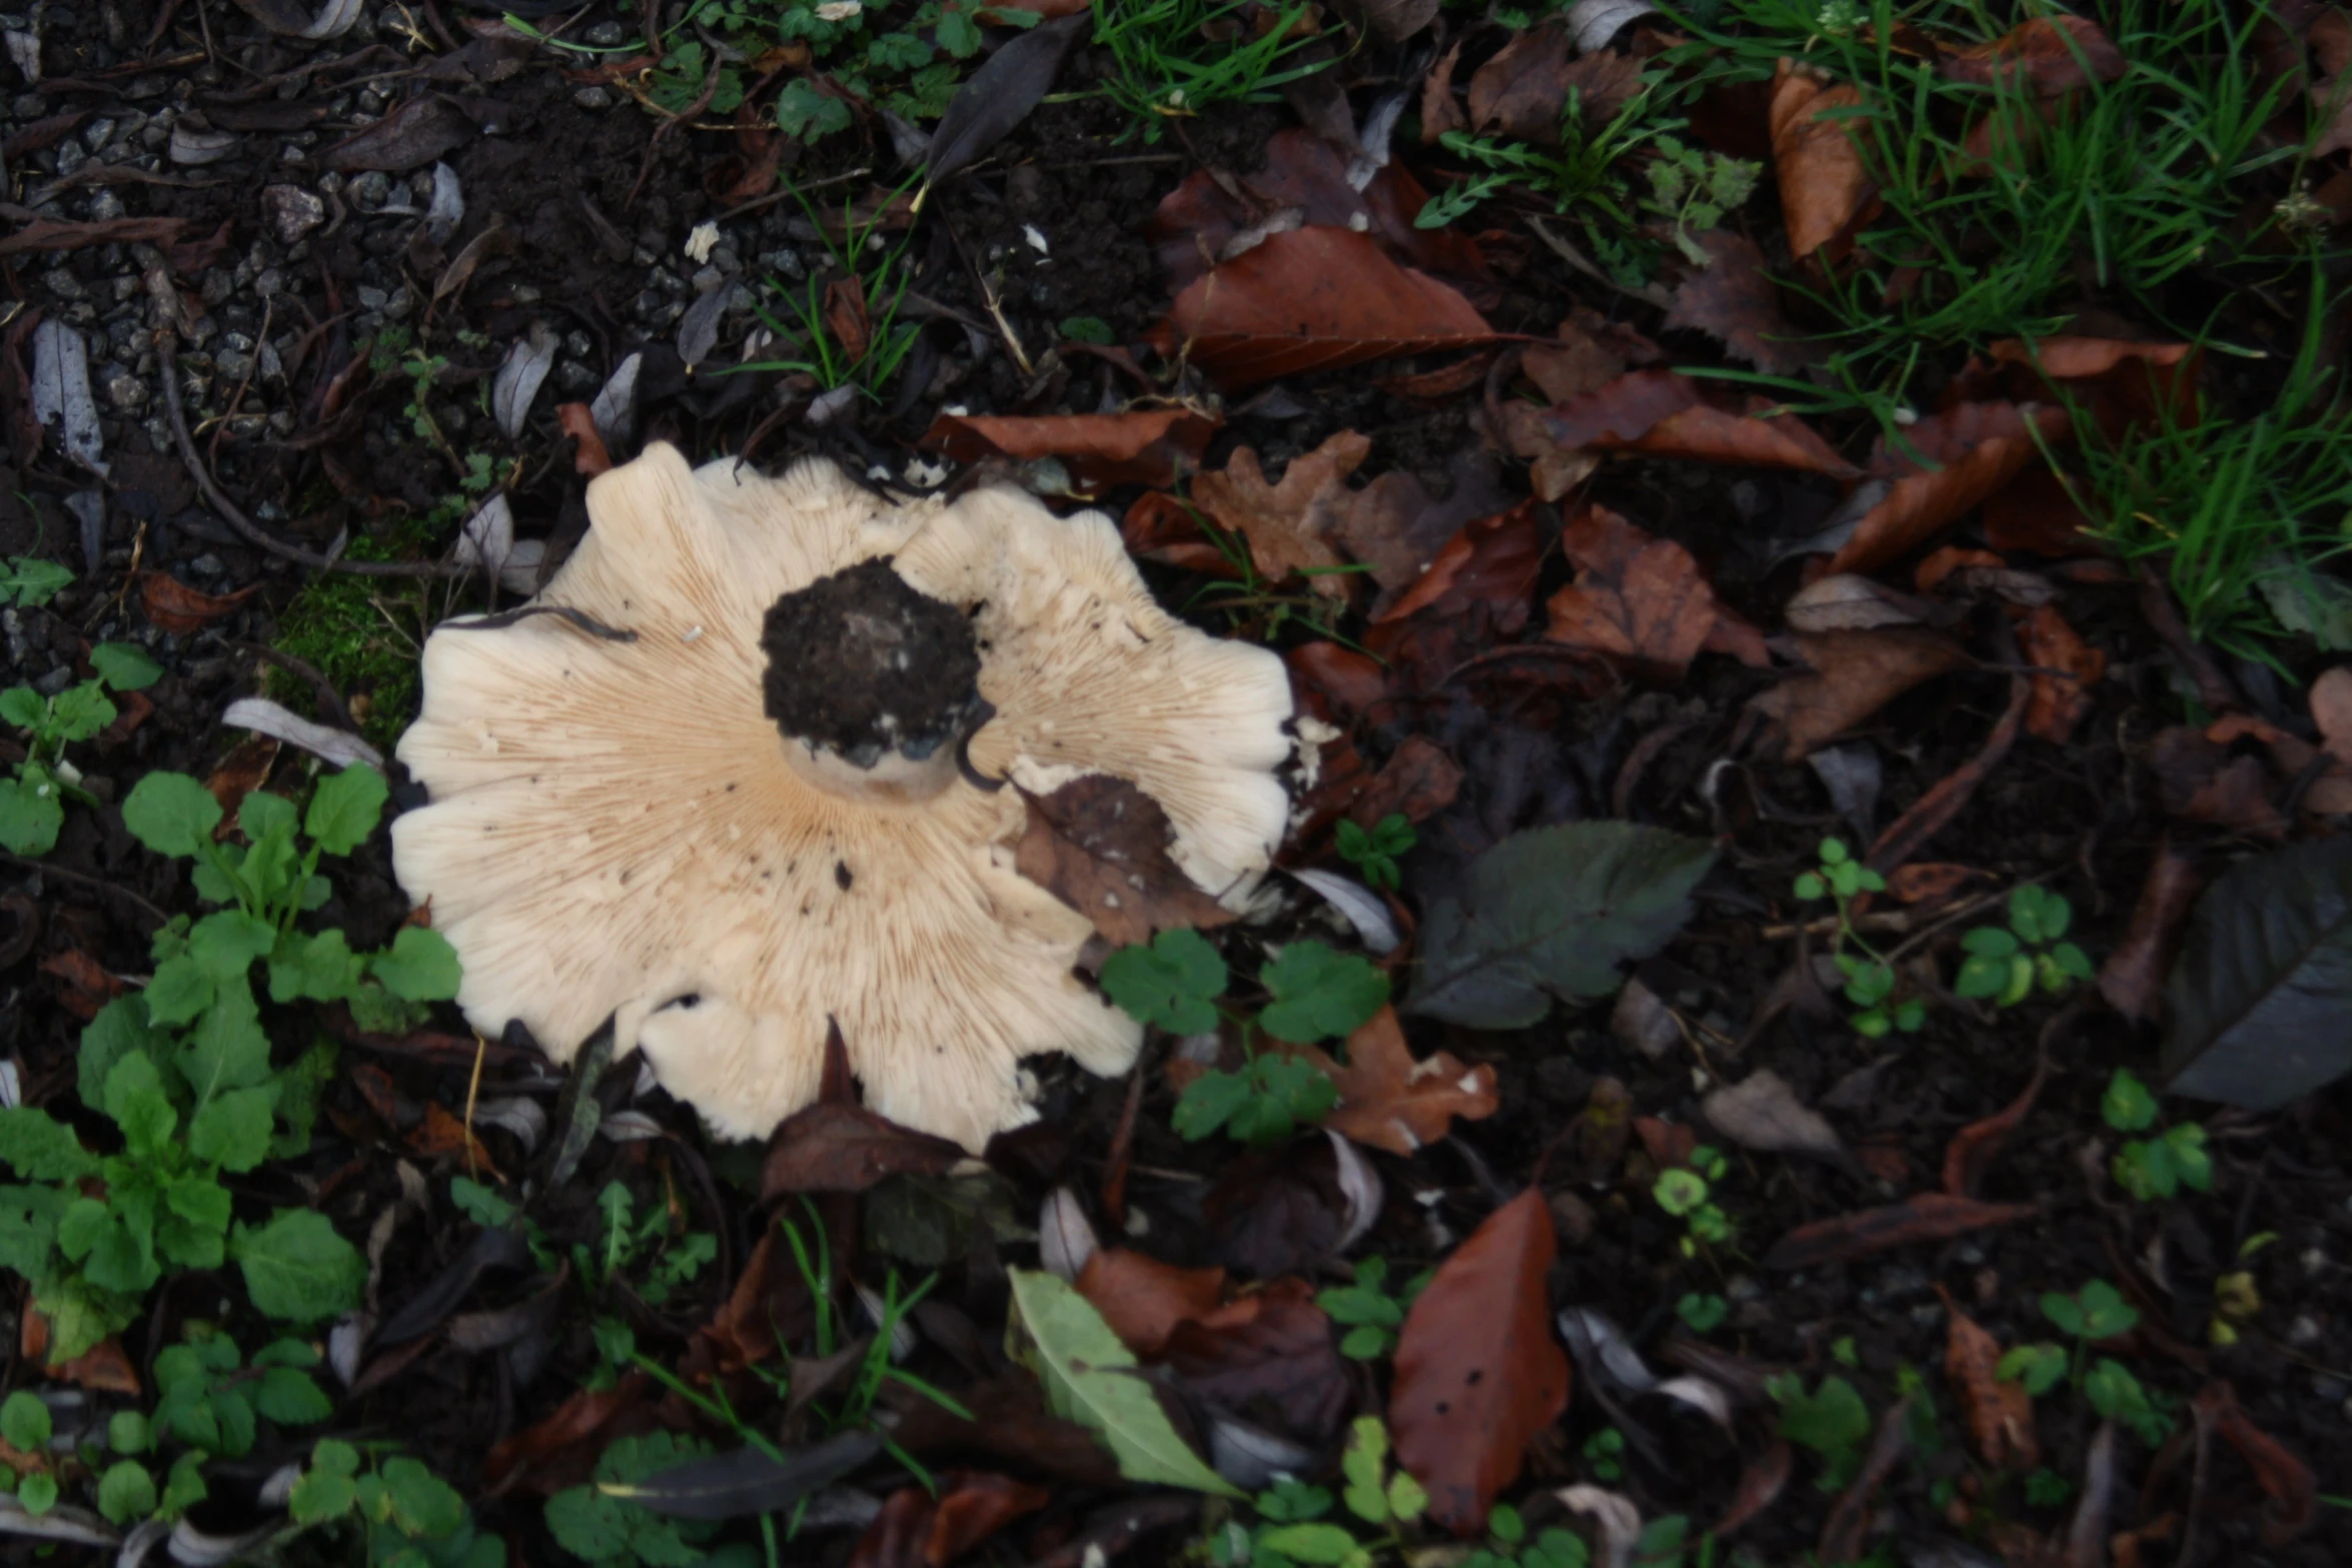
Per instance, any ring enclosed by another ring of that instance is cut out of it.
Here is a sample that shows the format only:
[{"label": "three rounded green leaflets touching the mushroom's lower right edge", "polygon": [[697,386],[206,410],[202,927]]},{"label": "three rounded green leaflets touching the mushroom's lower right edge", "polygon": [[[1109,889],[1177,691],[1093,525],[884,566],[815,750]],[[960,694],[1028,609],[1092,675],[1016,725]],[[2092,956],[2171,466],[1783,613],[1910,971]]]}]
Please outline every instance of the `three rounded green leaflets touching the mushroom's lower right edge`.
[{"label": "three rounded green leaflets touching the mushroom's lower right edge", "polygon": [[[1155,1023],[1171,1034],[1207,1034],[1221,1018],[1216,1006],[1225,994],[1225,959],[1200,931],[1162,931],[1148,945],[1120,947],[1103,959],[1103,994],[1129,1018]],[[1338,1091],[1312,1063],[1282,1053],[1256,1051],[1254,1037],[1265,1030],[1291,1044],[1343,1039],[1388,1006],[1388,976],[1369,959],[1341,954],[1322,943],[1291,943],[1258,971],[1272,994],[1256,1016],[1230,1016],[1242,1027],[1247,1063],[1240,1072],[1211,1070],[1192,1079],[1176,1100],[1176,1131],[1185,1138],[1228,1135],[1270,1147],[1322,1121]]]}]

